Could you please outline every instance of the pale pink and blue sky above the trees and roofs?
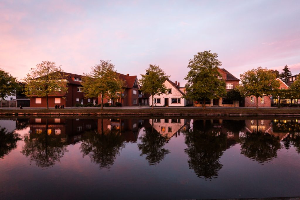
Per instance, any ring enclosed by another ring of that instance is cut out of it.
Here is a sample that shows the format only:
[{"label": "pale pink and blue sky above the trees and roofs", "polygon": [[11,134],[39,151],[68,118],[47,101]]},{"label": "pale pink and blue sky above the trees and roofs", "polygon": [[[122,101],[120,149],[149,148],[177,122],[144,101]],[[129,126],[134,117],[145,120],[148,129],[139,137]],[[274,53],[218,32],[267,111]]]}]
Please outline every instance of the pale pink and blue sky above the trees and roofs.
[{"label": "pale pink and blue sky above the trees and roofs", "polygon": [[0,68],[18,79],[49,60],[70,73],[110,59],[120,73],[160,65],[185,83],[188,60],[218,53],[236,77],[300,72],[300,1],[1,1]]}]

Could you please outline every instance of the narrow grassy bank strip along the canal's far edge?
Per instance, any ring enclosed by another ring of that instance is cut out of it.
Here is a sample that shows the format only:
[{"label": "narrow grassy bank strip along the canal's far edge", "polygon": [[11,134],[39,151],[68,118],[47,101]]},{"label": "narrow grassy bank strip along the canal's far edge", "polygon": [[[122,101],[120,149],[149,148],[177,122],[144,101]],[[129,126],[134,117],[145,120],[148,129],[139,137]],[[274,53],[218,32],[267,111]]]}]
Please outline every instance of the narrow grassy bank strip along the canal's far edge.
[{"label": "narrow grassy bank strip along the canal's far edge", "polygon": [[0,115],[181,115],[181,116],[300,116],[300,109],[202,109],[202,108],[155,108],[155,109],[1,109]]}]

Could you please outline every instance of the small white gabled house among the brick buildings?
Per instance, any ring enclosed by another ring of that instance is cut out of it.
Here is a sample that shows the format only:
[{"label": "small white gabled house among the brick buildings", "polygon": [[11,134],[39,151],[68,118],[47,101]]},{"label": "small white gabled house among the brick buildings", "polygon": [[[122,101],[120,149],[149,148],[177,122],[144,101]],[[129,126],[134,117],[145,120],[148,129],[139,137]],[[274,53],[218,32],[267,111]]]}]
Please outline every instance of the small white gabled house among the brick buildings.
[{"label": "small white gabled house among the brick buildings", "polygon": [[[164,82],[168,91],[161,95],[154,96],[154,106],[186,106],[190,105],[190,101],[185,98],[181,98],[185,93],[185,88],[180,87],[177,81],[174,83],[167,79]],[[150,106],[152,106],[152,96],[149,99]]]}]

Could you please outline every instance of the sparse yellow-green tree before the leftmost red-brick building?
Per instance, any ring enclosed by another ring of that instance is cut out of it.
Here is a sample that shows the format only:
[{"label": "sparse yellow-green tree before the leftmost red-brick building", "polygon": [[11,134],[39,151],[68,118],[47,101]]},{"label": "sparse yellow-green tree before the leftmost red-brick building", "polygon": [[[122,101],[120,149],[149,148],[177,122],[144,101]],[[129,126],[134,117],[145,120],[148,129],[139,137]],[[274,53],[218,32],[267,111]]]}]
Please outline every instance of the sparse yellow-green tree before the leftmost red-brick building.
[{"label": "sparse yellow-green tree before the leftmost red-brick building", "polygon": [[31,68],[31,72],[23,79],[25,94],[46,97],[47,109],[49,108],[48,96],[67,92],[67,80],[63,71],[55,62],[43,61]]}]

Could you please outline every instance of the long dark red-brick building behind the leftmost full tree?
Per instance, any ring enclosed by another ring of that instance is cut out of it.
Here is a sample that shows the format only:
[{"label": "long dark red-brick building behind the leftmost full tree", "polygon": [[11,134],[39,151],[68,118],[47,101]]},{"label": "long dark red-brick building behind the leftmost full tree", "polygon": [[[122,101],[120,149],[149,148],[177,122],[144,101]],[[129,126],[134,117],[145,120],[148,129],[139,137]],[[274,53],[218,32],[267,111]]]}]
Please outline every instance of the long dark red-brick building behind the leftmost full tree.
[{"label": "long dark red-brick building behind the leftmost full tree", "polygon": [[[76,103],[97,104],[97,98],[85,98],[84,92],[82,92],[82,76],[78,74],[71,74],[67,72],[61,72],[67,79],[67,93],[56,93],[48,96],[49,107],[55,107],[55,105],[64,105],[65,107],[75,106]],[[30,107],[46,107],[46,97],[38,97],[37,95],[31,95]]]}]

